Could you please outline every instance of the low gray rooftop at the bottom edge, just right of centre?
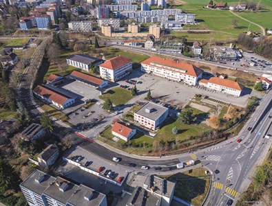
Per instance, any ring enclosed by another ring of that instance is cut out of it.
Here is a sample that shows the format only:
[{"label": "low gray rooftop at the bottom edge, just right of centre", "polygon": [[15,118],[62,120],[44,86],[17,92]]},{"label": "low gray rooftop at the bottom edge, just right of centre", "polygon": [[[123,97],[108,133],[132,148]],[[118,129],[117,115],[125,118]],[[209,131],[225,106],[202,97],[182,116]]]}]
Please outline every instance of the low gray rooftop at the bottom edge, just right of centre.
[{"label": "low gray rooftop at the bottom edge, just right of centre", "polygon": [[142,187],[136,187],[129,197],[126,206],[158,206],[160,205],[161,197],[151,194]]}]

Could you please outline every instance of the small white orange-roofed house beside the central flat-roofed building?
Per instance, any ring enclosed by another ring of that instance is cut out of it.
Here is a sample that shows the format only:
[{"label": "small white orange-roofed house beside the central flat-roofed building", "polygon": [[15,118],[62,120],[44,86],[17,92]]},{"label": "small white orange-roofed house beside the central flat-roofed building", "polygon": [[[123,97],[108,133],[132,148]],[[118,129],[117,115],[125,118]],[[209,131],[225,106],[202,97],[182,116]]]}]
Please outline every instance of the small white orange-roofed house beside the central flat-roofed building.
[{"label": "small white orange-roofed house beside the central flat-roofed building", "polygon": [[132,129],[129,126],[125,126],[120,122],[115,122],[114,126],[112,126],[112,135],[115,135],[116,137],[128,141],[134,135],[136,135],[136,129]]}]

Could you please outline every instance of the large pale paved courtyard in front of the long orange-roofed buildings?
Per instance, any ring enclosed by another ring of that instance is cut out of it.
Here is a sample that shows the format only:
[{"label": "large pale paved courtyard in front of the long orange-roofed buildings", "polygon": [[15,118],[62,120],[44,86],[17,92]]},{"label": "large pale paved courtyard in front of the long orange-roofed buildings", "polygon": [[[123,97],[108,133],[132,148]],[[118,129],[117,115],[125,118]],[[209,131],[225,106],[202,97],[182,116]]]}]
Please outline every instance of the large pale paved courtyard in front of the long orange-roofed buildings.
[{"label": "large pale paved courtyard in front of the long orange-roofed buildings", "polygon": [[[237,106],[245,106],[247,100],[251,95],[260,96],[260,93],[254,91],[246,91],[246,95],[236,98],[232,95],[220,93],[219,91],[212,91],[202,87],[188,86],[182,82],[174,82],[151,74],[146,74],[141,71],[134,71],[125,79],[139,80],[142,84],[136,84],[142,98],[145,98],[147,91],[150,89],[153,97],[160,98],[163,102],[170,103],[172,105],[185,106],[196,94],[207,95],[210,98],[228,102]],[[125,80],[118,82],[121,85],[128,86],[127,89],[134,87],[133,84],[125,82]]]}]

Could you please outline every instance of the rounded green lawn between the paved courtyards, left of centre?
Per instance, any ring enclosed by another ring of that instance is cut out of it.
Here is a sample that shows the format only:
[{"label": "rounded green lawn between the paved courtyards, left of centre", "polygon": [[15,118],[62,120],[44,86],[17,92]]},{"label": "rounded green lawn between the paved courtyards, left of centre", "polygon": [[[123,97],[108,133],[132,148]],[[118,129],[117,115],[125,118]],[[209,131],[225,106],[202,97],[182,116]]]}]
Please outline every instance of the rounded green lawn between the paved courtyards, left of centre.
[{"label": "rounded green lawn between the paved courtyards, left of centre", "polygon": [[130,100],[132,98],[132,93],[127,89],[115,87],[114,89],[107,91],[107,93],[100,95],[99,98],[102,100],[109,99],[112,101],[112,104],[118,106],[125,104],[128,100]]}]

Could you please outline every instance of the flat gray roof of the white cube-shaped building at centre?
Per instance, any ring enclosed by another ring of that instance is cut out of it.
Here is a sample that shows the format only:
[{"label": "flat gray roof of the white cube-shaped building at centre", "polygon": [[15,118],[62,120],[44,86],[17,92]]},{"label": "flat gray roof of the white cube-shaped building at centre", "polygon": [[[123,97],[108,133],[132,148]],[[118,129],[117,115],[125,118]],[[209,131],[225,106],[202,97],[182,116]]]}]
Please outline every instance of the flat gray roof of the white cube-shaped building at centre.
[{"label": "flat gray roof of the white cube-shaped building at centre", "polygon": [[166,111],[168,111],[168,108],[165,106],[161,106],[160,104],[155,104],[153,102],[147,102],[147,104],[139,108],[135,113],[156,121]]}]

